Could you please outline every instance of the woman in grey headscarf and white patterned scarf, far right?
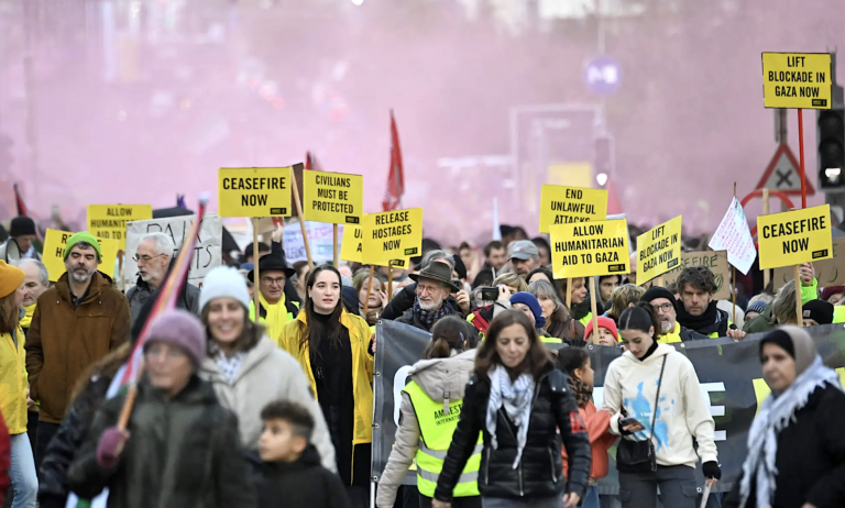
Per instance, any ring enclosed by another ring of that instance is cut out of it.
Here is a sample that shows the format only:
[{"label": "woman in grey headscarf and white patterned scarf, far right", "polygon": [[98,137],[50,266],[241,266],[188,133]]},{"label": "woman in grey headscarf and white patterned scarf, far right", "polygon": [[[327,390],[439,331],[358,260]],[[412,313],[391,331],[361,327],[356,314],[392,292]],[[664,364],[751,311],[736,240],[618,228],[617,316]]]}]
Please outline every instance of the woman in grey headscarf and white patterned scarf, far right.
[{"label": "woman in grey headscarf and white patterned scarf, far right", "polygon": [[845,506],[845,393],[824,366],[813,339],[781,327],[760,341],[762,377],[771,394],[748,431],[729,508]]}]

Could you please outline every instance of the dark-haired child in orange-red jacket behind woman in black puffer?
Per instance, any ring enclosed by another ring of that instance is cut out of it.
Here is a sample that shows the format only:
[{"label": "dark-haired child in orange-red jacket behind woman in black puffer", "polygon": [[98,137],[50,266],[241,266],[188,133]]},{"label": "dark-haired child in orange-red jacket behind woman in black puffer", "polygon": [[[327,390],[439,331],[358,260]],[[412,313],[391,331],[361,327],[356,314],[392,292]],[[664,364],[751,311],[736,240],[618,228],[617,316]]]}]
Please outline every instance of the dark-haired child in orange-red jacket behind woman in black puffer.
[{"label": "dark-haired child in orange-red jacket behind woman in black puffer", "polygon": [[[593,465],[590,471],[590,488],[581,504],[581,508],[599,508],[599,488],[596,481],[607,476],[607,450],[616,442],[616,437],[610,432],[611,413],[599,411],[593,404],[593,367],[590,355],[581,347],[564,347],[558,352],[558,365],[569,375],[569,386],[578,402],[578,411],[586,424],[590,435],[590,451]],[[567,449],[561,448],[563,457],[563,475],[567,474]]]}]

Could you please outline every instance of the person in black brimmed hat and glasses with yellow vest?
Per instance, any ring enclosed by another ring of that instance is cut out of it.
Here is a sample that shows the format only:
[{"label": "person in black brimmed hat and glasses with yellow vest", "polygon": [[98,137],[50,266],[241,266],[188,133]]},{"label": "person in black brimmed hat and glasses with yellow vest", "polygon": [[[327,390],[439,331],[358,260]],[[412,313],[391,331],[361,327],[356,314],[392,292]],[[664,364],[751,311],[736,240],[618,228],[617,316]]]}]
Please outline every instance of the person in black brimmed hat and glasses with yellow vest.
[{"label": "person in black brimmed hat and glasses with yellow vest", "polygon": [[[259,316],[267,329],[267,336],[279,344],[279,336],[285,323],[299,313],[299,309],[285,299],[285,283],[296,272],[285,261],[283,255],[267,254],[259,261],[259,284],[261,292]],[[255,270],[246,275],[250,283],[255,284]],[[253,289],[254,290],[254,289]],[[255,300],[250,301],[250,319],[255,322]]]}]

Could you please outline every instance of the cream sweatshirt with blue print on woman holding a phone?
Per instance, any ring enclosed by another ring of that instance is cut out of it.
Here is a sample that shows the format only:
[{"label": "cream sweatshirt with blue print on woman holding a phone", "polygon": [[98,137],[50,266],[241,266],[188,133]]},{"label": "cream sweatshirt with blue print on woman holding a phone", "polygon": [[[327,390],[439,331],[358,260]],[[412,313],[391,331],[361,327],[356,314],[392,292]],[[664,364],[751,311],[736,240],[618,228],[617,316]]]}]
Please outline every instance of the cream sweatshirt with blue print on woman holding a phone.
[{"label": "cream sweatshirt with blue print on woman holding a phone", "polygon": [[604,378],[602,407],[614,415],[611,431],[621,434],[619,420],[624,418],[621,408],[625,408],[628,417],[639,420],[645,430],[624,439],[648,439],[663,357],[666,371],[655,424],[657,463],[695,467],[699,457],[692,446],[692,438],[699,443],[702,462],[717,461],[718,452],[713,441],[715,423],[701,394],[699,376],[687,356],[669,344],[658,344],[654,354],[643,362],[627,351],[611,362]]}]

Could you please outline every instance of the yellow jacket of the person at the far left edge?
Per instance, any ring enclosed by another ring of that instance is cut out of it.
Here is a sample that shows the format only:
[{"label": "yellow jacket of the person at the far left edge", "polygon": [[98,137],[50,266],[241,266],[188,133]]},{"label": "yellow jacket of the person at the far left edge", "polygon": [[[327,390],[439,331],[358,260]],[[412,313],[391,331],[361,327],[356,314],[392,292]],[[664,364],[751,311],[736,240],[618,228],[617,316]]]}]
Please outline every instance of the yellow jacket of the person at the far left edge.
[{"label": "yellow jacket of the person at the far left edge", "polygon": [[26,432],[26,353],[23,351],[23,330],[15,330],[18,343],[11,333],[0,333],[0,411],[9,433]]}]

